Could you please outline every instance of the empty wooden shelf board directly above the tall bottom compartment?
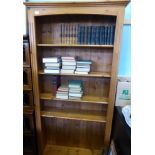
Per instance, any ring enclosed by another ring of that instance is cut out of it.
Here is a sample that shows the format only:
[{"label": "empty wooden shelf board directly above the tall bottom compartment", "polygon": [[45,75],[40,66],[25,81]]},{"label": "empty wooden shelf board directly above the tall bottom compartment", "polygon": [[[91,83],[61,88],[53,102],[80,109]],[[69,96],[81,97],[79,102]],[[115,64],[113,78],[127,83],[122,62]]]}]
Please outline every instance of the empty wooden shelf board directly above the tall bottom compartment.
[{"label": "empty wooden shelf board directly above the tall bottom compartment", "polygon": [[90,112],[50,109],[50,111],[41,111],[42,117],[61,118],[69,120],[90,121],[105,123],[106,118],[101,114],[92,114]]}]

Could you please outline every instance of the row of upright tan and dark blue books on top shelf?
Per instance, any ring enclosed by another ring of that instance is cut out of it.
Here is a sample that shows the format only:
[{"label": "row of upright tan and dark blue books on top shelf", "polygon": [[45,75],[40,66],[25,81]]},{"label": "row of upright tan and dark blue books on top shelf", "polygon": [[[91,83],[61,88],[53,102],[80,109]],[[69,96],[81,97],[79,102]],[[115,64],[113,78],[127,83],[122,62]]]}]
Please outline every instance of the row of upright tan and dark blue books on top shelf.
[{"label": "row of upright tan and dark blue books on top shelf", "polygon": [[62,44],[112,45],[115,25],[86,26],[80,24],[61,24]]}]

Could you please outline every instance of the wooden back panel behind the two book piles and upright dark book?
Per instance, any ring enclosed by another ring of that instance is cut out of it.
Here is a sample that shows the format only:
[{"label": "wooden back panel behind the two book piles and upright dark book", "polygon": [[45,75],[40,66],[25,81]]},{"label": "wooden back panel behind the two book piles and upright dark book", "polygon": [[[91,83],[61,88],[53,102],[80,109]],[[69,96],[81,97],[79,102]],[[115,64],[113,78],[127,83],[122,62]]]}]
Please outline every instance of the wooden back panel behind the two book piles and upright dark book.
[{"label": "wooden back panel behind the two book piles and upright dark book", "polygon": [[[93,77],[73,77],[61,76],[61,84],[68,84],[69,80],[82,80],[84,95],[108,97],[110,79],[109,78],[93,78]],[[40,76],[40,93],[52,93],[52,76]]]}]

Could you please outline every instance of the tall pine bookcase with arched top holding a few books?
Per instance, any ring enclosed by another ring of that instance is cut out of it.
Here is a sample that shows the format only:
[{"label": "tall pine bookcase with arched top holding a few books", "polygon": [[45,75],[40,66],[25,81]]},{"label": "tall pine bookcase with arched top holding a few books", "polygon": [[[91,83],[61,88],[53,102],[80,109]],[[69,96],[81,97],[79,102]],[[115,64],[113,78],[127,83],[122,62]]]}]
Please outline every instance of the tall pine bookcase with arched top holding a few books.
[{"label": "tall pine bookcase with arched top holding a few books", "polygon": [[[107,154],[127,4],[128,0],[25,3],[39,155]],[[61,23],[115,24],[114,44],[61,44],[58,29]],[[58,100],[52,95],[52,75],[42,70],[42,58],[51,56],[78,56],[92,60],[88,75],[57,75],[62,83],[71,79],[83,81],[84,96],[80,101]]]}]

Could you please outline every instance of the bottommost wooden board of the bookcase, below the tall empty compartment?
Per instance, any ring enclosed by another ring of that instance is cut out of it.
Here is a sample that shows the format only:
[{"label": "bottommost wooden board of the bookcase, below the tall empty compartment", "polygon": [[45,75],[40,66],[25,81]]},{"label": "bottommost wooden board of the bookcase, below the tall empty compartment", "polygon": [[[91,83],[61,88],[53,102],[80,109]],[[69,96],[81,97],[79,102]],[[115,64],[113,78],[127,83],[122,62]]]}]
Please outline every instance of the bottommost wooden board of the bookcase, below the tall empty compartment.
[{"label": "bottommost wooden board of the bookcase, below the tall empty compartment", "polygon": [[44,150],[44,155],[102,155],[102,150],[47,145]]}]

